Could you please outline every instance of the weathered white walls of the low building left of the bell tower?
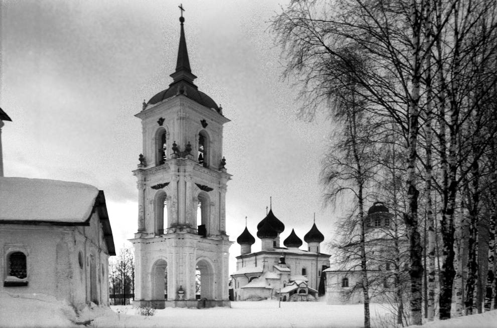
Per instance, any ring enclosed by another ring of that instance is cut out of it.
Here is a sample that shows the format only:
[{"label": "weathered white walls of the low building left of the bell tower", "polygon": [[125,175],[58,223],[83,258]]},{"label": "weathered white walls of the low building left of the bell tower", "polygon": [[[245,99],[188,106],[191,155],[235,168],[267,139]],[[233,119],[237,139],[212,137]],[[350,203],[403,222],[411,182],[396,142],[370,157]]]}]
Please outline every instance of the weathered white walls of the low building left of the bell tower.
[{"label": "weathered white walls of the low building left of the bell tower", "polygon": [[3,279],[8,275],[8,255],[17,250],[27,256],[28,282],[27,286],[19,287],[4,287],[2,283],[1,290],[54,295],[81,308],[92,300],[90,258],[93,258],[93,300],[108,305],[108,255],[99,225],[98,215],[93,214],[89,227],[0,226]]}]

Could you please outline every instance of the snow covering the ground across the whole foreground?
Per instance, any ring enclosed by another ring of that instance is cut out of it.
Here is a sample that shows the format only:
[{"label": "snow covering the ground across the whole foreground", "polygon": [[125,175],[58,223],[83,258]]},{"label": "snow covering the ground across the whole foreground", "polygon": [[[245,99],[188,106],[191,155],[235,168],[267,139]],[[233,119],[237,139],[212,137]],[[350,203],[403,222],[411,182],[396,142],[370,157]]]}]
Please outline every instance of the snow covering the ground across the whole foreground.
[{"label": "snow covering the ground across the whole foreground", "polygon": [[[362,304],[324,302],[231,302],[231,308],[156,310],[138,315],[132,306],[93,307],[79,315],[68,304],[43,294],[0,293],[0,327],[361,327]],[[374,327],[385,327],[389,311],[371,304]],[[76,324],[78,323],[78,324]],[[496,327],[497,310],[469,317],[431,322],[429,328]]]}]

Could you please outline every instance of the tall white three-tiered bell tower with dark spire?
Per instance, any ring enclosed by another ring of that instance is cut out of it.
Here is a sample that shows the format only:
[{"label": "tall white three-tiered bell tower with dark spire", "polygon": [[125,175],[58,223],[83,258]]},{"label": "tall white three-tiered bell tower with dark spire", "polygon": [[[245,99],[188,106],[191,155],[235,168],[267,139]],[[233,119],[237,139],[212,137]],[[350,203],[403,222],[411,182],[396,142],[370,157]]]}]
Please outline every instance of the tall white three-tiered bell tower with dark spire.
[{"label": "tall white three-tiered bell tower with dark spire", "polygon": [[[169,87],[143,103],[135,304],[229,306],[222,108],[194,84],[183,8]],[[199,291],[200,290],[200,291]],[[198,300],[201,301],[198,301]]]}]

